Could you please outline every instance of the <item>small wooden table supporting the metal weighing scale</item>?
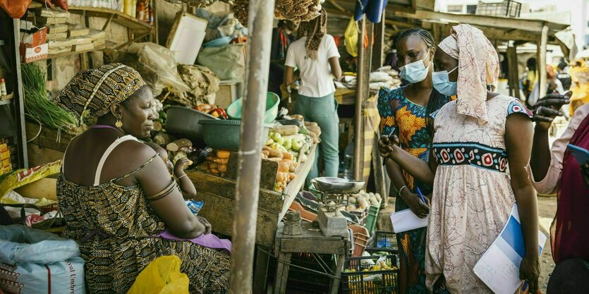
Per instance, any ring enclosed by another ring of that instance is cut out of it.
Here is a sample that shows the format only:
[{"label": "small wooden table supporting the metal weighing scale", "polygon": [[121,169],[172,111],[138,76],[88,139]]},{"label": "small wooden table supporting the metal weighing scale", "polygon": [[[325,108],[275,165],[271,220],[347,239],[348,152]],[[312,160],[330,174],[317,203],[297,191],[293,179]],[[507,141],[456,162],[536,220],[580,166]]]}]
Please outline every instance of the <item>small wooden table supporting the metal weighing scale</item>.
[{"label": "small wooden table supporting the metal weighing scale", "polygon": [[315,253],[336,255],[329,293],[336,294],[339,289],[341,271],[344,271],[344,259],[350,254],[350,238],[326,237],[316,223],[301,223],[303,233],[300,235],[283,235],[284,223],[279,223],[276,233],[275,251],[278,255],[278,267],[274,278],[274,294],[286,292],[289,279],[291,256],[293,253]]}]

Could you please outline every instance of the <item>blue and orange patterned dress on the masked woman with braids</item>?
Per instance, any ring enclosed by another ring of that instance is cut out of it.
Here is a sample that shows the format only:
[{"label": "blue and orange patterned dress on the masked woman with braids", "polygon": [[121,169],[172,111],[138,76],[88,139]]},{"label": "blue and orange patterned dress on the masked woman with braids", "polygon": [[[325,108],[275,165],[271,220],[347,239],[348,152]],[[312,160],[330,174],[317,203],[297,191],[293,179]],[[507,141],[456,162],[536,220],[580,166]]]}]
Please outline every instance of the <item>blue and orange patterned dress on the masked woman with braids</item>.
[{"label": "blue and orange patterned dress on the masked woman with braids", "polygon": [[[391,133],[396,128],[401,147],[414,157],[423,161],[429,159],[430,135],[427,133],[427,109],[424,106],[411,102],[405,94],[404,87],[389,90],[381,88],[378,94],[378,112],[381,118],[380,131],[383,135]],[[436,90],[433,90],[436,91]],[[437,101],[433,111],[442,108],[450,102],[451,98],[443,97]],[[413,193],[420,188],[424,195],[430,194],[432,188],[415,180],[413,176],[403,171],[403,177],[407,187]],[[399,187],[400,188],[400,187]],[[401,197],[396,197],[395,211],[408,209],[409,207]],[[400,293],[427,293],[425,288],[425,237],[426,228],[396,234],[399,245],[399,286]]]}]

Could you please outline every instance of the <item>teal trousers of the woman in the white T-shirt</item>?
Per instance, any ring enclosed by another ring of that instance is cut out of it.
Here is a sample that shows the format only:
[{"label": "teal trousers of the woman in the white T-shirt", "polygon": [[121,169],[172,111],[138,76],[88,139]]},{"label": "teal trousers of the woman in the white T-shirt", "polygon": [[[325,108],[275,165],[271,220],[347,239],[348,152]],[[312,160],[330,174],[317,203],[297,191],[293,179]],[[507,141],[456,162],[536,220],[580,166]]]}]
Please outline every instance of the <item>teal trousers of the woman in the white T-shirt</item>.
[{"label": "teal trousers of the woman in the white T-shirt", "polygon": [[298,95],[293,109],[293,114],[300,114],[305,121],[317,123],[321,128],[321,143],[315,152],[315,164],[313,165],[306,186],[310,186],[310,180],[319,176],[319,151],[323,155],[324,176],[337,177],[339,170],[339,116],[337,115],[337,101],[334,94],[325,97],[306,97]]}]

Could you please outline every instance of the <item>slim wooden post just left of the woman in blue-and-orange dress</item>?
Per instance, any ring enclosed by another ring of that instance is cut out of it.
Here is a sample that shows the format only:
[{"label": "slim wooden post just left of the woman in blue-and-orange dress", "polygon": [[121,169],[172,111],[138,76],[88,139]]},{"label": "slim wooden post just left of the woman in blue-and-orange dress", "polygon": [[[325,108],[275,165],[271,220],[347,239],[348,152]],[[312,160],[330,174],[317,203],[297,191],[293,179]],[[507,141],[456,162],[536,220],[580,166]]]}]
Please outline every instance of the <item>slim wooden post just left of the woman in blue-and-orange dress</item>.
[{"label": "slim wooden post just left of the woman in blue-and-orange dress", "polygon": [[354,179],[362,180],[364,153],[362,149],[362,102],[364,97],[364,35],[366,34],[366,17],[360,21],[360,36],[358,36],[358,80],[356,82],[356,109],[354,111]]}]

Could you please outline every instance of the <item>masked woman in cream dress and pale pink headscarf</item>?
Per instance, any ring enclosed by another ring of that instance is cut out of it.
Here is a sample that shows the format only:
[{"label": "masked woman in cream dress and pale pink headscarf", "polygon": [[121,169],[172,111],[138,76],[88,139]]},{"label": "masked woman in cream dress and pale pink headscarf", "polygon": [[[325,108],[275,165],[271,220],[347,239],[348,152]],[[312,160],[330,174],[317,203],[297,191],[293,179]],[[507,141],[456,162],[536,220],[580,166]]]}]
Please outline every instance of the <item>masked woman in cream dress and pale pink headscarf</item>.
[{"label": "masked woman in cream dress and pale pink headscarf", "polygon": [[434,62],[434,87],[442,94],[457,94],[457,99],[432,115],[435,135],[429,164],[389,145],[384,137],[379,142],[382,156],[433,186],[427,288],[432,293],[492,293],[473,268],[517,202],[526,247],[520,277],[528,281],[530,293],[536,293],[538,203],[526,173],[531,113],[518,99],[487,91],[499,75],[499,58],[475,27],[453,27],[451,36],[439,44]]}]

